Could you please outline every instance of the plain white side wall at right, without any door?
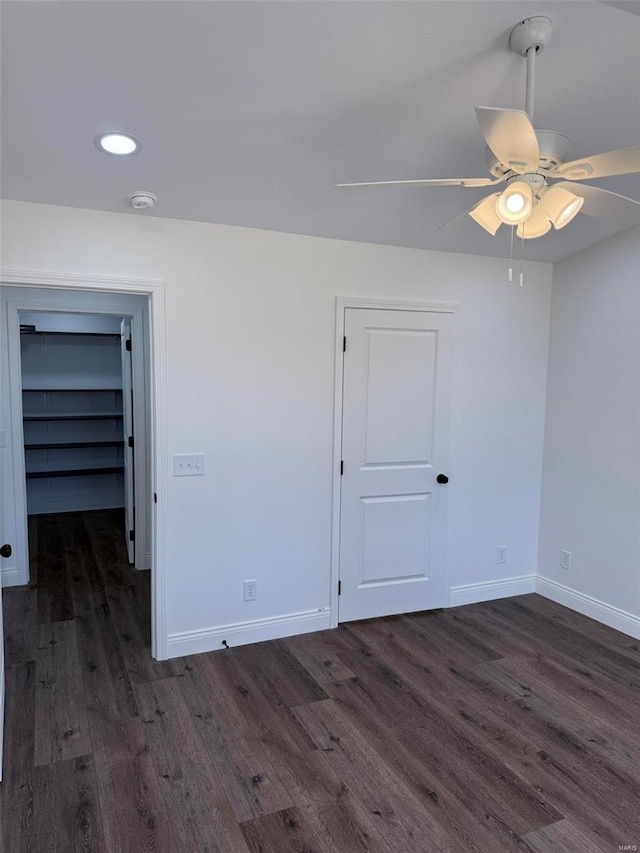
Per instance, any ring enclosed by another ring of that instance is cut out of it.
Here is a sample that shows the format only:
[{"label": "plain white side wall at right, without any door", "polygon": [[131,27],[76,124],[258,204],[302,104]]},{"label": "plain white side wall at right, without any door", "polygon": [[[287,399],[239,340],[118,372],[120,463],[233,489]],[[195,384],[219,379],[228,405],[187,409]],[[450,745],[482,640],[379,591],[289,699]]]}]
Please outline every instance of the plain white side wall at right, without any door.
[{"label": "plain white side wall at right, without any door", "polygon": [[540,524],[539,591],[640,637],[640,228],[554,267]]}]

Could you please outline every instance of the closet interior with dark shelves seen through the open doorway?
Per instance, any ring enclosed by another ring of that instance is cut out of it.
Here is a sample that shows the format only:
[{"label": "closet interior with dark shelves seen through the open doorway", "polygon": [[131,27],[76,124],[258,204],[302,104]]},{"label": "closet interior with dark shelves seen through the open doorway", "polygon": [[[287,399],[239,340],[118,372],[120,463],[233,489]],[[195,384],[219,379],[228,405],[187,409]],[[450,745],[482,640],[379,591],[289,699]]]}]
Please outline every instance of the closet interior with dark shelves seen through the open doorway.
[{"label": "closet interior with dark shelves seen through the open doorway", "polygon": [[28,514],[123,507],[121,318],[24,312],[20,324]]}]

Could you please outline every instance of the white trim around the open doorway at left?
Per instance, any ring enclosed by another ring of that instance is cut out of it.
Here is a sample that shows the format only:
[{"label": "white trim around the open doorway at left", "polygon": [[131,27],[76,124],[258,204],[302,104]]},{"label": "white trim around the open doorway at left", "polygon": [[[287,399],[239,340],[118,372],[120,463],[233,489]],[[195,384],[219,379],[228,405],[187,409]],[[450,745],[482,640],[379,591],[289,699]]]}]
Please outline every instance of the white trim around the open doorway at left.
[{"label": "white trim around the open doorway at left", "polygon": [[[166,632],[166,495],[168,494],[169,471],[167,458],[167,365],[166,323],[164,282],[160,279],[122,278],[96,275],[77,275],[36,270],[0,269],[0,283],[7,286],[30,286],[60,288],[76,291],[99,291],[127,293],[147,296],[149,299],[149,376],[150,390],[150,438],[152,444],[150,482],[158,495],[158,503],[152,507],[152,554],[151,573],[151,653],[156,660],[167,659]],[[92,309],[93,310],[93,309]],[[17,445],[20,446],[20,445]],[[16,456],[21,454],[13,454]],[[24,464],[22,465],[24,467]],[[15,470],[14,470],[15,478]],[[25,507],[26,511],[26,507]],[[26,535],[26,534],[25,534]],[[25,551],[26,553],[26,551]]]}]

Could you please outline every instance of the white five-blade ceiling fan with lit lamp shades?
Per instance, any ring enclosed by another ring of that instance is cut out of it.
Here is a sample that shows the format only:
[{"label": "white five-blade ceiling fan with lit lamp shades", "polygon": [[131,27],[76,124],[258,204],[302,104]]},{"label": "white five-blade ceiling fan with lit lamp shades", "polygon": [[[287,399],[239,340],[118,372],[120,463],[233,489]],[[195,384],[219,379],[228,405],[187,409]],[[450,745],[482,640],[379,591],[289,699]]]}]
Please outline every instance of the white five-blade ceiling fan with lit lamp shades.
[{"label": "white five-blade ceiling fan with lit lamp shades", "polygon": [[460,214],[468,213],[492,236],[504,223],[515,226],[518,237],[523,239],[541,237],[552,225],[556,229],[564,228],[580,211],[590,216],[632,215],[640,219],[640,201],[578,183],[640,172],[640,145],[567,162],[571,140],[562,133],[533,127],[536,55],[549,43],[552,31],[551,19],[544,16],[520,21],[511,31],[511,49],[527,60],[525,110],[476,108],[493,177],[369,181],[336,186],[496,187],[506,184]]}]

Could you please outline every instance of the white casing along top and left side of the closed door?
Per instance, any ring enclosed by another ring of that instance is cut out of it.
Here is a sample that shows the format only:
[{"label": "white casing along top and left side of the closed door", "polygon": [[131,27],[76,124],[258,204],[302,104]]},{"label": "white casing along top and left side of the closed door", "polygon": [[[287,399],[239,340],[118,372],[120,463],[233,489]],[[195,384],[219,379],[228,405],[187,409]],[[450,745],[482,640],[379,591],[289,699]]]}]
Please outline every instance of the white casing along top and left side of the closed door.
[{"label": "white casing along top and left side of the closed door", "polygon": [[336,297],[336,349],[333,380],[333,482],[331,490],[331,586],[329,592],[332,628],[337,628],[340,620],[340,599],[338,597],[338,580],[340,578],[340,511],[342,497],[340,461],[342,460],[342,388],[344,380],[343,343],[345,310],[347,308],[378,308],[388,311],[429,311],[431,313],[455,314],[460,308],[460,303],[423,302],[422,300],[412,299],[380,299],[366,296]]}]

